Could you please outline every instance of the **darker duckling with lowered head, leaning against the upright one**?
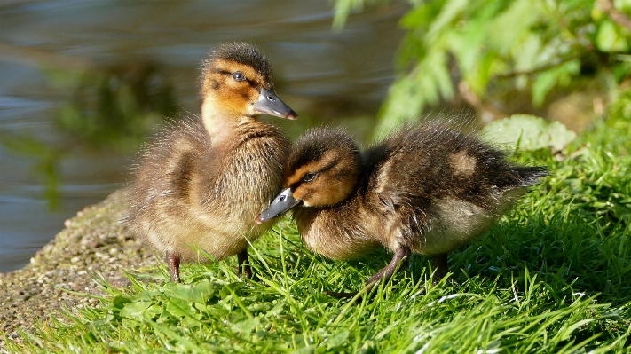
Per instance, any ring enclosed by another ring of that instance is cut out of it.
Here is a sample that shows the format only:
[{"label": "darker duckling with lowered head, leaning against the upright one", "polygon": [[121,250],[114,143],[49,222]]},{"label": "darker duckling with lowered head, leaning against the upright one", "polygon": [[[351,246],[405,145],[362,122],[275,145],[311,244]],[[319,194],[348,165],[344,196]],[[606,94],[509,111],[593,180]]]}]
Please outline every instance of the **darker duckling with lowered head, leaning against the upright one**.
[{"label": "darker duckling with lowered head, leaning against the upright one", "polygon": [[[547,176],[450,123],[408,126],[360,153],[343,130],[308,130],[288,156],[283,188],[256,217],[265,223],[291,208],[308,248],[334,260],[383,247],[390,264],[367,281],[388,281],[414,252],[434,257],[435,279],[447,253],[487,231],[517,198]],[[350,297],[357,293],[328,293]]]}]

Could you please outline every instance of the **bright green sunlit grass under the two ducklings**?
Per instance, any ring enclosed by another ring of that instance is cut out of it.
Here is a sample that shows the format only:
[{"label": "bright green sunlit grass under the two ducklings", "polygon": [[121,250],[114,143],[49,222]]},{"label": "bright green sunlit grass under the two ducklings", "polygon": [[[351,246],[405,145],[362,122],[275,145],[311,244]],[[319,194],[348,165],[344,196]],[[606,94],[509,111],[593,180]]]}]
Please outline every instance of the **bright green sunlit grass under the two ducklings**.
[{"label": "bright green sunlit grass under the two ducklings", "polygon": [[[372,301],[356,290],[389,261],[377,252],[331,262],[305,251],[288,219],[250,252],[257,277],[235,260],[162,268],[103,284],[95,309],[48,323],[19,352],[575,353],[631,352],[631,122],[580,135],[568,152],[518,153],[552,177],[485,236],[450,255],[457,283],[432,285],[414,256]],[[234,258],[234,257],[233,257]],[[141,282],[137,279],[149,278]]]}]

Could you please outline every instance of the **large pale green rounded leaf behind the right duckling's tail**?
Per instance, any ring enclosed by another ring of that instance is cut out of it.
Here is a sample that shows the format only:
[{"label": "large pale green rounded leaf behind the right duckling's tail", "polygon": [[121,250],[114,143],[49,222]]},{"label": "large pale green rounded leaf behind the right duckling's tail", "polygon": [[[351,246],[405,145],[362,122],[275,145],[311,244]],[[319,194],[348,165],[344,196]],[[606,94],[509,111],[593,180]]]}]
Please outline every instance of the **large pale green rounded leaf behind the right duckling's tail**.
[{"label": "large pale green rounded leaf behind the right duckling's tail", "polygon": [[559,151],[576,138],[576,134],[565,128],[563,123],[529,114],[514,114],[491,122],[482,134],[493,142],[520,150],[552,148]]}]

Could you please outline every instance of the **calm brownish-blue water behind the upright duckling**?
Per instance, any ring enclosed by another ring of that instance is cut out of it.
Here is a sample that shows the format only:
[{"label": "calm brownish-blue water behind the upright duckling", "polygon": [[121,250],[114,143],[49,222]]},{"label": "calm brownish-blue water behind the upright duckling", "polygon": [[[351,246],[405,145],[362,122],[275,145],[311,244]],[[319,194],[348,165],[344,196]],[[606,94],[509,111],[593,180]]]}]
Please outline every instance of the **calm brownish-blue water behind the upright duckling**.
[{"label": "calm brownish-blue water behind the upright duckling", "polygon": [[264,51],[300,114],[282,124],[289,135],[348,116],[366,133],[372,122],[357,117],[375,114],[393,79],[405,6],[353,15],[334,32],[330,1],[4,0],[0,271],[27,264],[64,220],[124,184],[146,133],[131,128],[159,122],[155,112],[198,112],[197,67],[214,43]]}]

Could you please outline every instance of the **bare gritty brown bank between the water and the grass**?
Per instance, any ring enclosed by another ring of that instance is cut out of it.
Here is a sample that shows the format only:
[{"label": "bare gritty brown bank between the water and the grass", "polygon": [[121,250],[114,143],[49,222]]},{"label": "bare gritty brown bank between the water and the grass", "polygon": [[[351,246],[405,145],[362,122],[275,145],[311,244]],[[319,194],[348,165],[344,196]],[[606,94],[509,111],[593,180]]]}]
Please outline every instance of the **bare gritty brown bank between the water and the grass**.
[{"label": "bare gritty brown bank between the water and the grass", "polygon": [[126,204],[125,191],[121,190],[84,208],[66,221],[66,228],[54,240],[37,251],[30,264],[18,271],[0,273],[0,352],[4,351],[2,332],[10,340],[19,340],[17,329],[30,332],[35,320],[45,323],[64,309],[75,311],[99,302],[62,288],[103,295],[94,274],[124,287],[129,280],[123,270],[133,272],[158,264],[152,251],[117,222]]}]

